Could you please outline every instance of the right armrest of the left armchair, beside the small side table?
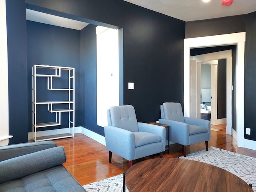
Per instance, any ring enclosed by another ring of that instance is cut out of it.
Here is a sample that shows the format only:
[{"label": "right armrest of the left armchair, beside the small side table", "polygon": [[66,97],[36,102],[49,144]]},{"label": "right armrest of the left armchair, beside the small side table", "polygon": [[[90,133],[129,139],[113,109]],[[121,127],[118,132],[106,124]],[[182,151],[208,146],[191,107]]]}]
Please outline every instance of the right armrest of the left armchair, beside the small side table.
[{"label": "right armrest of the left armchair, beside the small side table", "polygon": [[166,134],[166,130],[165,130],[165,128],[163,126],[138,122],[138,129],[139,129],[139,131],[142,131],[142,132],[149,132],[149,133],[152,133],[152,134],[159,135],[162,138],[161,142],[163,144],[163,151],[165,151],[165,145],[166,145],[165,134]]}]

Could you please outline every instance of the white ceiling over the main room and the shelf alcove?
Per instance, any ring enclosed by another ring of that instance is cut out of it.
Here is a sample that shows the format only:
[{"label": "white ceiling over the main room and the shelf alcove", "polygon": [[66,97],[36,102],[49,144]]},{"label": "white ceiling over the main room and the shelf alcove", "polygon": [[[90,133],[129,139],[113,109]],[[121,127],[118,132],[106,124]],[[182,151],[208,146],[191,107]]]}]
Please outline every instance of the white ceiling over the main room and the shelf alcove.
[{"label": "white ceiling over the main room and the shelf alcove", "polygon": [[[256,11],[256,0],[233,0],[231,6],[222,6],[222,0],[124,0],[132,4],[183,20],[194,21],[225,16],[248,14]],[[81,30],[88,23],[54,16],[26,9],[26,19],[30,21]]]}]

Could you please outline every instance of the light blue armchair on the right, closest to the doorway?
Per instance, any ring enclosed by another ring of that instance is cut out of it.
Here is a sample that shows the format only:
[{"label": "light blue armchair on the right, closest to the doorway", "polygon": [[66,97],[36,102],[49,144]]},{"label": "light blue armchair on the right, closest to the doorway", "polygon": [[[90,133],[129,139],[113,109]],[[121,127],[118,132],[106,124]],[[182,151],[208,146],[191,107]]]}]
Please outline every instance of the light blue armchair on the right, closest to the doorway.
[{"label": "light blue armchair on the right, closest to the doorway", "polygon": [[159,123],[170,125],[170,140],[182,144],[185,157],[190,144],[205,142],[208,151],[210,121],[184,117],[180,103],[163,103],[160,110]]}]

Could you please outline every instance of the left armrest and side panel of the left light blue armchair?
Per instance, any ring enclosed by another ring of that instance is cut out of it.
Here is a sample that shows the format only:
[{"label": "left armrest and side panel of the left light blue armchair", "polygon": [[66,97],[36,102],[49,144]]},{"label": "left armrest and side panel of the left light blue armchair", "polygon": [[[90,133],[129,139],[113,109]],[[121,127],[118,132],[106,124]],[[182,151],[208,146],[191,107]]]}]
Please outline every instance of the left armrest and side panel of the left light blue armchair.
[{"label": "left armrest and side panel of the left light blue armchair", "polygon": [[135,136],[133,132],[114,126],[104,127],[106,148],[127,160],[134,159]]}]

